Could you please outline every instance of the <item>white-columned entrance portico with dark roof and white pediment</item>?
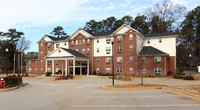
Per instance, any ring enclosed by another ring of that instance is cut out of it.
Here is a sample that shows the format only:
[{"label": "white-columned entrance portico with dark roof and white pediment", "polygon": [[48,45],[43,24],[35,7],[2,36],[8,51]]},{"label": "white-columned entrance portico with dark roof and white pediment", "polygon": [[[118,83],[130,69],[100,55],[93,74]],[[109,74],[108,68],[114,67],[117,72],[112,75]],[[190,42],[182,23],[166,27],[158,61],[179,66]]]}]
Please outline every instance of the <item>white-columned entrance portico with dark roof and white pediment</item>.
[{"label": "white-columned entrance portico with dark roof and white pediment", "polygon": [[[55,51],[51,52],[49,55],[44,57],[45,59],[45,72],[52,72],[52,75],[55,74],[55,61],[63,61],[62,63],[62,75],[70,74],[72,69],[72,74],[75,76],[75,69],[80,69],[80,75],[83,74],[83,68],[87,68],[87,75],[89,75],[89,58],[85,55],[71,49],[58,48]],[[47,64],[48,61],[51,61],[51,71],[48,71]]]}]

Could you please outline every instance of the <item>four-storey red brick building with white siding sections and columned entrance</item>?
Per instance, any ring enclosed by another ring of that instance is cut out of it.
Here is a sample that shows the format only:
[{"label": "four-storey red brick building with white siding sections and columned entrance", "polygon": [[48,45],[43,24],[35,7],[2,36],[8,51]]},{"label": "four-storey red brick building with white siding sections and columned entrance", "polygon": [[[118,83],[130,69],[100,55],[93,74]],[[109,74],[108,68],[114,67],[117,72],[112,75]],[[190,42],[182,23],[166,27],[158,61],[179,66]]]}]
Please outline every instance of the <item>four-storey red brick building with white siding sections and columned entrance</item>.
[{"label": "four-storey red brick building with white siding sections and columned entrance", "polygon": [[44,35],[38,41],[38,57],[27,59],[27,73],[112,73],[111,41],[115,74],[149,76],[175,72],[177,35],[142,35],[124,24],[109,32],[88,33],[79,28],[67,37]]}]

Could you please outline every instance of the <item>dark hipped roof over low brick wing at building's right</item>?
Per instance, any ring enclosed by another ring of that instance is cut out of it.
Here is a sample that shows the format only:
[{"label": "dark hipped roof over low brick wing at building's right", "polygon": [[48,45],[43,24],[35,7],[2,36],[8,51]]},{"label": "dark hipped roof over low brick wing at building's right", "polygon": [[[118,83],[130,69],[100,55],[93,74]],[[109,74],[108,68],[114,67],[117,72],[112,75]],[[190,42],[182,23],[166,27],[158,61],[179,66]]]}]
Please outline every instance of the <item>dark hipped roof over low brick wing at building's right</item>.
[{"label": "dark hipped roof over low brick wing at building's right", "polygon": [[145,46],[140,51],[139,55],[141,56],[154,56],[154,55],[168,55],[167,53],[158,50],[152,46]]}]

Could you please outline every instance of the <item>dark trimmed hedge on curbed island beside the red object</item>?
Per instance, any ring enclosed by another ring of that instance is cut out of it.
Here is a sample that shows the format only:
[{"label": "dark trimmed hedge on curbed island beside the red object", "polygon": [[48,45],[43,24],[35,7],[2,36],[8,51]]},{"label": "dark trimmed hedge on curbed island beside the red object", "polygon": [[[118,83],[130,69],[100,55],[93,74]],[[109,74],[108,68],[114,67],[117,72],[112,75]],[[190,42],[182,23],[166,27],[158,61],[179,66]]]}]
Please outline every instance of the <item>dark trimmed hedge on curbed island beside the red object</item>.
[{"label": "dark trimmed hedge on curbed island beside the red object", "polygon": [[16,85],[19,85],[22,83],[22,77],[20,77],[20,76],[5,77],[4,81],[5,81],[6,87],[13,87],[13,86],[16,86]]}]

